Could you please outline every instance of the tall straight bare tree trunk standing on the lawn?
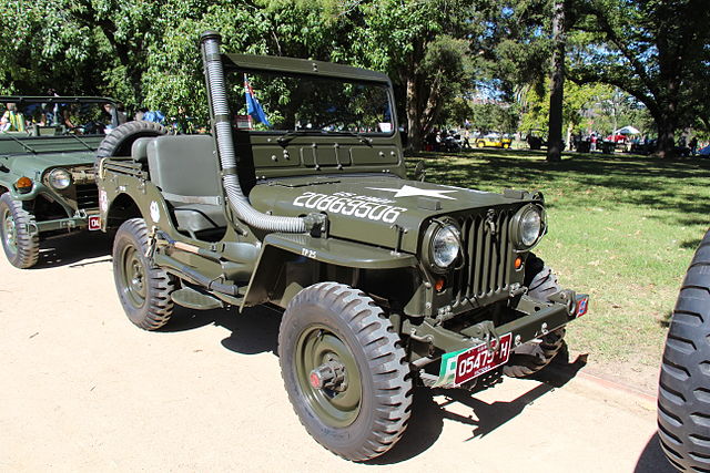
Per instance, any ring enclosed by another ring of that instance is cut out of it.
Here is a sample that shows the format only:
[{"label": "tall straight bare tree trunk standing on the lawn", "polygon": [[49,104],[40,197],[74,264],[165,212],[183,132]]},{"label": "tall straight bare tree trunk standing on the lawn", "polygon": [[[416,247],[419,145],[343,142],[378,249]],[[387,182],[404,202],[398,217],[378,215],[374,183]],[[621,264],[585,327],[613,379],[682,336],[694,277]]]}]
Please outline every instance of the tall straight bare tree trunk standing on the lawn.
[{"label": "tall straight bare tree trunk standing on the lawn", "polygon": [[547,161],[561,161],[562,101],[565,97],[565,0],[552,6],[552,80],[550,85],[550,116],[547,137]]}]

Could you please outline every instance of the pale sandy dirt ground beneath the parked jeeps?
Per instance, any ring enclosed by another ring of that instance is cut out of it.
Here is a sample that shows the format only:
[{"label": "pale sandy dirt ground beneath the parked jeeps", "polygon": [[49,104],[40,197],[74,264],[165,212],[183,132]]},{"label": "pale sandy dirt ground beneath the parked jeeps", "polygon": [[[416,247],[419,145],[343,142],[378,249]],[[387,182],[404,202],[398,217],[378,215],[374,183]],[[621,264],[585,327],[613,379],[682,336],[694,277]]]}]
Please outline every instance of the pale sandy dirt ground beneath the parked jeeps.
[{"label": "pale sandy dirt ground beneath the parked jeeps", "polygon": [[672,471],[652,397],[580,359],[473,394],[419,389],[403,440],[346,462],[288,404],[278,313],[181,309],[145,332],[119,305],[105,238],[44,247],[31,270],[0,258],[0,471]]}]

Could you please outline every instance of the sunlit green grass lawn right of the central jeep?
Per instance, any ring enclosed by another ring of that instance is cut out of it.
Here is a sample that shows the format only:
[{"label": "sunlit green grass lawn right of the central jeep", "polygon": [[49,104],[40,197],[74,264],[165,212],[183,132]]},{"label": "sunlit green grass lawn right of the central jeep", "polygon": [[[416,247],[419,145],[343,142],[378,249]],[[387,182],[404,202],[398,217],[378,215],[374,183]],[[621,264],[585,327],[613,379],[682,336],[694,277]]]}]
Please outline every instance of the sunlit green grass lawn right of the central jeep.
[{"label": "sunlit green grass lawn right of the central jeep", "polygon": [[607,369],[658,368],[679,286],[710,226],[710,160],[575,154],[548,164],[544,152],[476,150],[408,161],[420,160],[429,182],[541,191],[549,233],[535,253],[564,287],[591,296],[568,331],[570,349]]}]

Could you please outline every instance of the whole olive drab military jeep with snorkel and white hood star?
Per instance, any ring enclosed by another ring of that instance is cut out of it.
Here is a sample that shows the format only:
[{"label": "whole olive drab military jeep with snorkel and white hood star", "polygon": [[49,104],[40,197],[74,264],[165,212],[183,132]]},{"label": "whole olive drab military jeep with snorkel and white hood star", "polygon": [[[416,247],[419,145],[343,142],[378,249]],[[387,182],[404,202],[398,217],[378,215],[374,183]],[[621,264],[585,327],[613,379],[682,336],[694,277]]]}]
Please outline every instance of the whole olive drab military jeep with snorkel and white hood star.
[{"label": "whole olive drab military jeep with snorkel and white hood star", "polygon": [[212,134],[132,141],[126,124],[112,135],[130,153],[98,155],[133,323],[158,329],[175,305],[284,310],[294,410],[353,461],[399,440],[413,383],[527,376],[560,350],[587,297],[530,253],[547,229],[540,193],[407,181],[382,73],[222,54],[214,32],[201,48]]}]

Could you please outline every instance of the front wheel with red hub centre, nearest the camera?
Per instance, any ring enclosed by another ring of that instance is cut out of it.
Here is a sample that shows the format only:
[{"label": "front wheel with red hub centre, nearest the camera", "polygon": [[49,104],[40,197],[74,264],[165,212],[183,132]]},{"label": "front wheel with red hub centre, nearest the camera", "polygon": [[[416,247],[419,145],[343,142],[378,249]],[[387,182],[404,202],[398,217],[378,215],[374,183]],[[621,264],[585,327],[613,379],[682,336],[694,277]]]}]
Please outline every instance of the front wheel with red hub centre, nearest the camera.
[{"label": "front wheel with red hub centre, nearest the camera", "polygon": [[[320,282],[298,292],[281,322],[278,358],[301,423],[333,453],[362,462],[400,439],[412,405],[409,367],[389,319],[359,290]],[[339,373],[336,383],[314,387],[311,373],[323,367]]]}]

